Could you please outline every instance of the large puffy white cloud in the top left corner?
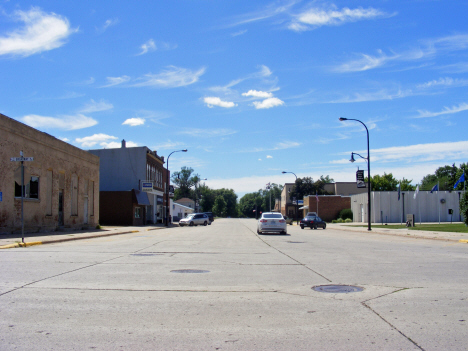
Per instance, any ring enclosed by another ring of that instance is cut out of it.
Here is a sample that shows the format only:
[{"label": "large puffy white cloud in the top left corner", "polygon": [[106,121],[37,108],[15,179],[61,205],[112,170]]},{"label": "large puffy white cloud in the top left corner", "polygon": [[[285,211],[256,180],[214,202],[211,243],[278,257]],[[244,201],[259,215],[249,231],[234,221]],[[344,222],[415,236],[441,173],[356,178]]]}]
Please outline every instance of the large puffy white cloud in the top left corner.
[{"label": "large puffy white cloud in the top left corner", "polygon": [[27,12],[16,11],[13,18],[24,26],[0,37],[0,55],[30,56],[56,49],[77,31],[70,28],[65,17],[37,7]]}]

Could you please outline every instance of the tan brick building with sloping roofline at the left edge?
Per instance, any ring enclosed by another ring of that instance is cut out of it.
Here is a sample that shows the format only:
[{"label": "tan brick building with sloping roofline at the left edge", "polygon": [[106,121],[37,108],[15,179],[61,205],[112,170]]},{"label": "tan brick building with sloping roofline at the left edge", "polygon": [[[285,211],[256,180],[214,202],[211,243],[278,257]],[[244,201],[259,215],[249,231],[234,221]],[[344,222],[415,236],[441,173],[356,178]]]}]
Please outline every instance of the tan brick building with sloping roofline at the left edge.
[{"label": "tan brick building with sloping roofline at the left edge", "polygon": [[0,114],[0,233],[21,232],[21,151],[26,233],[99,223],[99,157]]}]

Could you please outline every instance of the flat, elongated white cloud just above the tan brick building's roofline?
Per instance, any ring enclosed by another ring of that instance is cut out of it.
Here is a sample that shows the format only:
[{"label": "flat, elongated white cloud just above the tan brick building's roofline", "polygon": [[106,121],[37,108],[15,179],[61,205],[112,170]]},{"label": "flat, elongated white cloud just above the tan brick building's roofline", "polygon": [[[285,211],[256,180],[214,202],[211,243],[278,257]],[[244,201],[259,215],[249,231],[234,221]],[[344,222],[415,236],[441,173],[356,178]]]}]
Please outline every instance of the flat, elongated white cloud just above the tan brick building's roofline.
[{"label": "flat, elongated white cloud just above the tan brick building's roofline", "polygon": [[27,115],[21,118],[21,120],[33,128],[40,129],[76,130],[92,127],[98,124],[95,119],[82,114],[60,117]]}]

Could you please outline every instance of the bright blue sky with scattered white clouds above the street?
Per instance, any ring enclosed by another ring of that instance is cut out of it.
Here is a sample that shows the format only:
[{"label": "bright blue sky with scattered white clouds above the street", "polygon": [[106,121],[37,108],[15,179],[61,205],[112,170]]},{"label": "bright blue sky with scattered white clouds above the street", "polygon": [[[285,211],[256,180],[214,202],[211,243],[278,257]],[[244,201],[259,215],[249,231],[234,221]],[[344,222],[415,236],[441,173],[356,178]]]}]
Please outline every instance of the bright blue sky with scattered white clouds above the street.
[{"label": "bright blue sky with scattered white clouds above the street", "polygon": [[468,2],[0,0],[0,112],[239,196],[466,162]]}]

